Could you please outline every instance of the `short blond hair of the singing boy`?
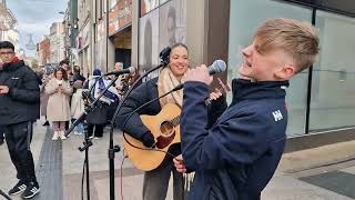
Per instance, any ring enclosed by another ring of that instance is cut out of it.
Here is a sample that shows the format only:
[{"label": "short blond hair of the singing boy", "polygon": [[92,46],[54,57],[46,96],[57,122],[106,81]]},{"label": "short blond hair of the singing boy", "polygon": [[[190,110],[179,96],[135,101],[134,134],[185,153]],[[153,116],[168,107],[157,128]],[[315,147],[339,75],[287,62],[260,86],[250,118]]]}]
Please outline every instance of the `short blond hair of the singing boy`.
[{"label": "short blond hair of the singing boy", "polygon": [[276,18],[265,21],[254,34],[257,41],[256,50],[267,53],[272,50],[283,50],[291,56],[296,66],[296,72],[311,67],[318,54],[320,39],[315,28],[307,22]]}]

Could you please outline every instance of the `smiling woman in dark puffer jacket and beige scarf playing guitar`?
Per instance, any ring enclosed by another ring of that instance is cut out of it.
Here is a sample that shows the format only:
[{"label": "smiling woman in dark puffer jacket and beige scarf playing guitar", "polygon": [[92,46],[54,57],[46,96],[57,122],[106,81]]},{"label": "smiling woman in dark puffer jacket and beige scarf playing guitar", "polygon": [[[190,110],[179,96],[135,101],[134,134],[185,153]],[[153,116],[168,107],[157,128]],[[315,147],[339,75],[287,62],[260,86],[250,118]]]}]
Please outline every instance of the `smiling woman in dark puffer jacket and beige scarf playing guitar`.
[{"label": "smiling woman in dark puffer jacket and beige scarf playing guitar", "polygon": [[[173,92],[165,98],[155,101],[141,110],[134,112],[124,126],[124,121],[132,111],[134,111],[141,104],[161,97],[169,92],[174,87],[181,83],[181,79],[184,73],[189,70],[189,51],[187,47],[182,43],[172,46],[170,53],[170,63],[166,68],[160,71],[158,78],[153,78],[146,82],[143,82],[138,88],[133,89],[126,101],[123,102],[122,109],[120,110],[116,118],[116,126],[122,131],[128,132],[133,138],[142,141],[146,148],[155,148],[155,138],[151,131],[142,123],[140,114],[158,114],[166,103],[175,103],[182,107],[183,93],[182,91]],[[222,113],[226,108],[225,97],[221,97],[221,93],[214,94],[211,110],[215,113]],[[214,109],[217,108],[217,109]],[[217,114],[214,117],[217,118]],[[215,121],[215,120],[214,120]],[[183,123],[181,124],[184,126]],[[178,156],[181,153],[180,144],[170,148],[170,153]],[[143,182],[143,200],[164,200],[166,197],[169,180],[173,174],[174,182],[174,200],[181,200],[183,198],[183,177],[179,173],[173,166],[173,158],[166,156],[165,160],[161,166],[152,171],[144,172]]]}]

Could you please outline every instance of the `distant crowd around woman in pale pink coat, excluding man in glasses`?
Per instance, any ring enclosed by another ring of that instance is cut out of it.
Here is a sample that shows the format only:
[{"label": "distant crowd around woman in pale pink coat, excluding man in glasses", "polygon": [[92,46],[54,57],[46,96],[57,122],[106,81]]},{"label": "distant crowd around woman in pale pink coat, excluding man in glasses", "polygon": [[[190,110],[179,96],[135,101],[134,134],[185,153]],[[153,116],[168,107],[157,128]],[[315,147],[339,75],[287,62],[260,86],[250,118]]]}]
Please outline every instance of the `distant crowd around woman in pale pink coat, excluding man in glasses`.
[{"label": "distant crowd around woman in pale pink coat, excluding man in glasses", "polygon": [[[115,66],[122,66],[118,62]],[[122,68],[114,68],[122,70]],[[101,78],[101,70],[93,70],[92,74],[85,79],[81,74],[79,66],[71,70],[69,62],[61,61],[54,70],[43,69],[39,77],[41,79],[41,114],[45,118],[43,126],[52,126],[52,140],[65,140],[64,131],[84,112],[83,92],[90,97],[98,98],[112,78]],[[119,104],[121,97],[128,87],[120,77],[113,87],[104,92],[95,109],[88,114],[88,133],[90,138],[102,138],[103,129],[113,117],[113,112]],[[90,101],[90,100],[89,100]],[[79,123],[74,134],[82,134],[83,123]]]}]

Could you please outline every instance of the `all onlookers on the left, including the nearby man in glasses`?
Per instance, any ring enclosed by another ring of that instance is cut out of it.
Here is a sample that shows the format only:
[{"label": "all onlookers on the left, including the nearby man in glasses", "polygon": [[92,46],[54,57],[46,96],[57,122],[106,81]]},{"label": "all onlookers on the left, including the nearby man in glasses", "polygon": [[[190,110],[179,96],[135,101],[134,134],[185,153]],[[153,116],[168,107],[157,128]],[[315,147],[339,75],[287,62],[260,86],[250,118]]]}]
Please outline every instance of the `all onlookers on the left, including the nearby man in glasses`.
[{"label": "all onlookers on the left, including the nearby man in glasses", "polygon": [[[85,79],[79,66],[71,68],[65,60],[58,67],[36,72],[16,57],[14,46],[9,41],[0,42],[0,146],[7,142],[18,178],[8,193],[21,193],[23,199],[31,199],[40,192],[30,148],[36,133],[33,123],[43,116],[43,126],[53,129],[49,131],[53,132],[52,140],[65,140],[64,131],[70,123],[80,118],[84,107],[103,92],[112,78],[101,78],[101,71],[95,69]],[[104,126],[112,118],[124,94],[123,90],[128,89],[122,81],[120,78],[110,87],[98,101],[94,111],[87,117],[87,130],[91,138],[103,136]],[[84,101],[83,91],[89,93],[91,100]],[[109,112],[111,109],[113,111]],[[74,134],[83,132],[84,126],[79,123]]]}]

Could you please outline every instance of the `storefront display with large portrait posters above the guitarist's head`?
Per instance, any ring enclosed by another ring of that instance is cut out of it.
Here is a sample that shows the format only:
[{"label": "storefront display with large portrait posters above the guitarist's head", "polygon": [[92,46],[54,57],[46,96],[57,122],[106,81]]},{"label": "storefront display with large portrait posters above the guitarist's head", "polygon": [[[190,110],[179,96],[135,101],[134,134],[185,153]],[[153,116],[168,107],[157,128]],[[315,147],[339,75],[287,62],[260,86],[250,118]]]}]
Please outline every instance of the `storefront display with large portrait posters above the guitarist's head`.
[{"label": "storefront display with large portrait posters above the guitarist's head", "polygon": [[[140,2],[139,68],[140,73],[160,64],[159,53],[175,42],[185,43],[186,0]],[[158,71],[148,79],[158,76]]]}]

